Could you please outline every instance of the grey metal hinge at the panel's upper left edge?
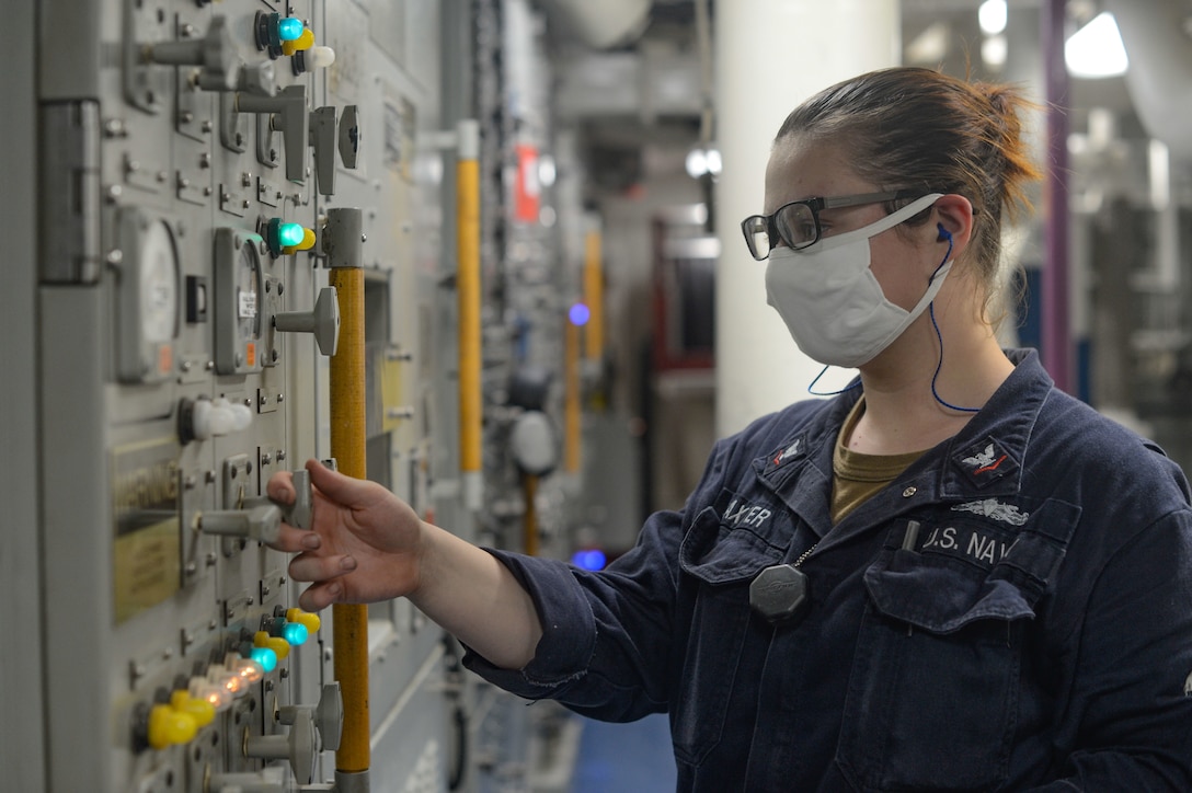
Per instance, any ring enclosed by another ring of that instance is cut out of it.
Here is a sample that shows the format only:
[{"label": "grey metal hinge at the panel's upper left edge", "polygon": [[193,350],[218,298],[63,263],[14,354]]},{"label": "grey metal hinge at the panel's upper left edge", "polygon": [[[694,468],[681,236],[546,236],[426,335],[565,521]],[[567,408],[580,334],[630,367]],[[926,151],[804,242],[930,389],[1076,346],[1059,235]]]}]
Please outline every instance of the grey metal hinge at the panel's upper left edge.
[{"label": "grey metal hinge at the panel's upper left edge", "polygon": [[99,281],[99,138],[98,101],[42,105],[42,283]]}]

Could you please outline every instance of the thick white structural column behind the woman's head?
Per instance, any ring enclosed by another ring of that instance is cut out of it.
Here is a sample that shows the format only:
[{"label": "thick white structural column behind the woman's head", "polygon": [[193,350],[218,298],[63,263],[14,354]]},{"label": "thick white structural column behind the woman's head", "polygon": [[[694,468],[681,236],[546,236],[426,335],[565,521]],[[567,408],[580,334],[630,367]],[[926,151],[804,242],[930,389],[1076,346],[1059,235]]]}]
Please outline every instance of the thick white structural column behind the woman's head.
[{"label": "thick white structural column behind the woman's head", "polygon": [[[716,138],[716,434],[807,397],[821,366],[765,302],[765,264],[740,221],[762,211],[770,144],[787,114],[821,88],[899,62],[896,0],[733,0],[714,19]],[[831,384],[840,384],[839,373]],[[830,385],[828,388],[832,388]],[[836,385],[839,388],[839,385]]]}]

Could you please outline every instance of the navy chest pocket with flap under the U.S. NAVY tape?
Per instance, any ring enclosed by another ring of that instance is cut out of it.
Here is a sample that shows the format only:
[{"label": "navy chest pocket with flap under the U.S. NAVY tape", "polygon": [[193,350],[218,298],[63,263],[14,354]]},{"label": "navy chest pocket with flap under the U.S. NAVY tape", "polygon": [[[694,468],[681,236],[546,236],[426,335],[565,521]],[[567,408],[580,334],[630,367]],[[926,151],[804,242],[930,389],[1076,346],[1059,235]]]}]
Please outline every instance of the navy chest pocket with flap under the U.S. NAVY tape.
[{"label": "navy chest pocket with flap under the U.S. NAVY tape", "polygon": [[[1013,541],[1007,532],[999,545]],[[887,547],[865,571],[837,757],[857,789],[989,791],[1006,780],[1022,637],[1045,581],[956,550]]]}]

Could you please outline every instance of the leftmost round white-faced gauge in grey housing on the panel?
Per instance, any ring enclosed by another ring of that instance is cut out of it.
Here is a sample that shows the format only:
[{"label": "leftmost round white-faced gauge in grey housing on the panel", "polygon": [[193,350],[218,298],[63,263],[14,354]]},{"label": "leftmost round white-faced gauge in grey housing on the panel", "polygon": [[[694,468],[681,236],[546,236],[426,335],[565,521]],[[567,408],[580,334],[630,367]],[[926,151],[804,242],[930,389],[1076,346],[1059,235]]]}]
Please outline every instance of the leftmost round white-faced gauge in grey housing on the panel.
[{"label": "leftmost round white-faced gauge in grey housing on the panel", "polygon": [[135,207],[120,215],[117,366],[125,383],[169,377],[179,322],[178,249],[169,224]]}]

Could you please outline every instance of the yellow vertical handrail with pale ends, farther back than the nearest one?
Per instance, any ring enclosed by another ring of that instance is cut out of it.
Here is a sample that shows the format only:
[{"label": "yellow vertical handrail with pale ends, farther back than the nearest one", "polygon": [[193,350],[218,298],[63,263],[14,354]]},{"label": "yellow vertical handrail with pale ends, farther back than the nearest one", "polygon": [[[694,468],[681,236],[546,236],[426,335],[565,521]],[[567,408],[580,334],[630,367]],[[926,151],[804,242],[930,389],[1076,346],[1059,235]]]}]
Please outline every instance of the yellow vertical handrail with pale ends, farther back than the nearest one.
[{"label": "yellow vertical handrail with pale ends, farther back than the nearest one", "polygon": [[455,165],[455,291],[459,299],[459,463],[464,504],[479,512],[483,503],[480,421],[480,128],[459,123]]}]

